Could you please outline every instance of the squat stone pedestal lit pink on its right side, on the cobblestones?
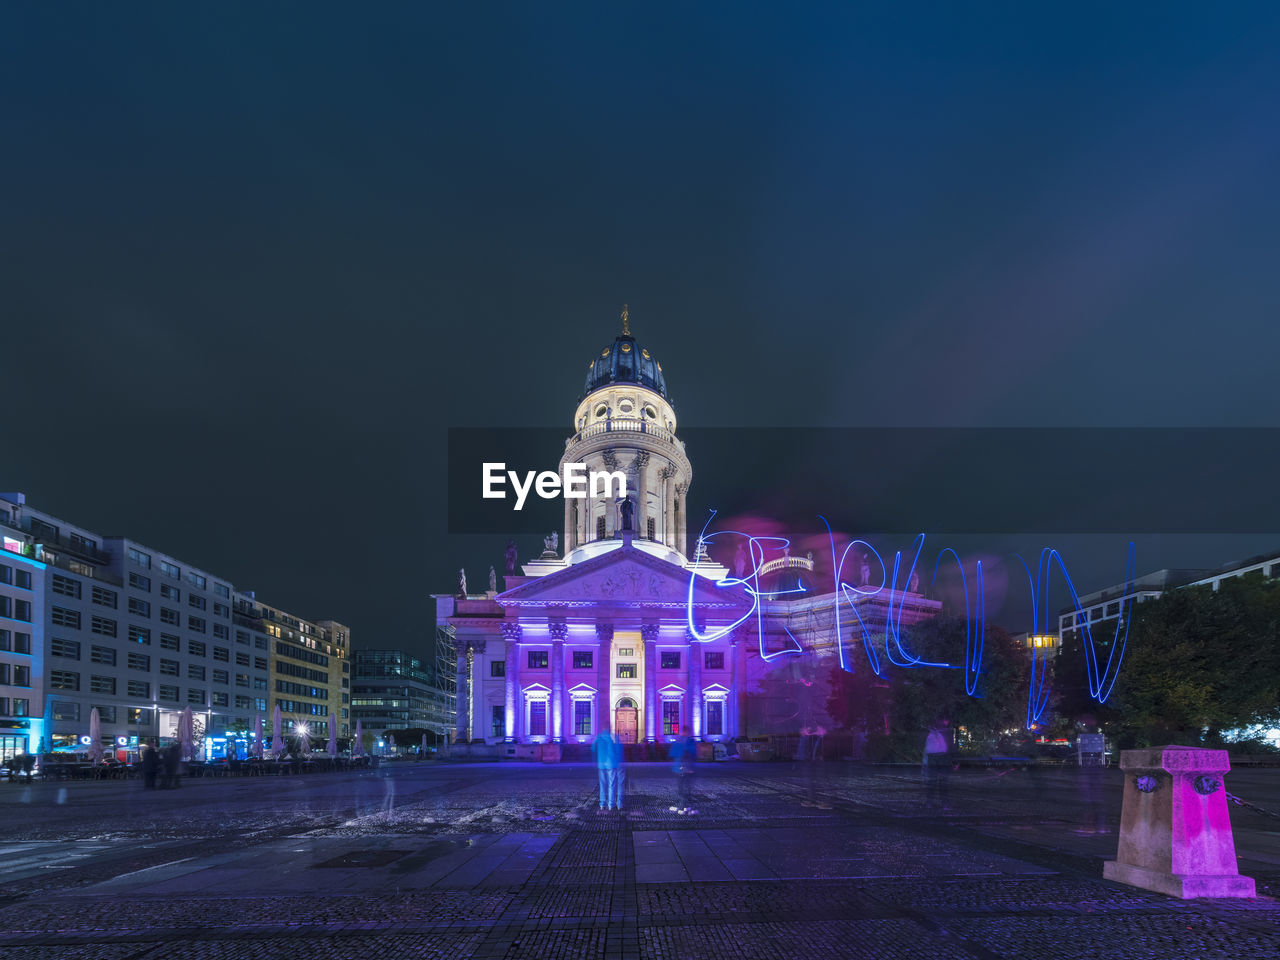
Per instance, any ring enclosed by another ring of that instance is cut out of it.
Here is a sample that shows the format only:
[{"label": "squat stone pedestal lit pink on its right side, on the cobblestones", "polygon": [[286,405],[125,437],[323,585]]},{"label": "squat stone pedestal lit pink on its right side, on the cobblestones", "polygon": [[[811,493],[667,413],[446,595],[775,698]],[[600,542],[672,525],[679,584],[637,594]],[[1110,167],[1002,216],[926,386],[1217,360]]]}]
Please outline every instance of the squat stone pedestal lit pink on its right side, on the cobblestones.
[{"label": "squat stone pedestal lit pink on its right side, on the cobblestones", "polygon": [[1222,776],[1226,750],[1153,746],[1124,750],[1120,846],[1102,876],[1190,900],[1252,897],[1253,879],[1235,864]]}]

